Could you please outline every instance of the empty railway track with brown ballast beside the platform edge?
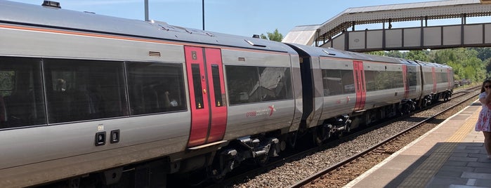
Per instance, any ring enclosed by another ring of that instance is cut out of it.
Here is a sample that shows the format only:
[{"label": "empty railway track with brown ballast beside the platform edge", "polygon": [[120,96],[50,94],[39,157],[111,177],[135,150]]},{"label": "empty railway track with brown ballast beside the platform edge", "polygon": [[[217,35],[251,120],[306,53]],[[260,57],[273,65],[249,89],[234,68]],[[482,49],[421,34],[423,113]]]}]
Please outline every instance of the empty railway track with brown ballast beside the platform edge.
[{"label": "empty railway track with brown ballast beside the platform edge", "polygon": [[[477,89],[480,89],[480,87],[474,87],[469,90],[459,92],[459,95],[452,98],[468,97],[468,99],[457,102],[456,104],[447,107],[440,113],[430,116],[423,121],[419,121],[418,123],[415,123],[414,126],[407,128],[396,135],[388,137],[386,140],[379,142],[377,145],[374,145],[369,149],[365,149],[365,151],[355,154],[354,156],[336,163],[333,166],[329,166],[329,168],[325,168],[324,170],[321,170],[310,177],[306,177],[290,187],[319,187],[320,185],[322,185],[322,187],[342,187],[348,182],[351,182],[351,180],[353,180],[355,177],[365,173],[366,170],[369,170],[380,161],[383,161],[388,156],[391,156],[391,154],[394,152],[397,152],[402,147],[405,147],[405,145],[409,144],[413,140],[416,140],[421,135],[424,135],[424,133],[427,133],[435,126],[438,126],[442,119],[447,119],[449,116],[456,113],[454,109],[457,108],[460,110],[461,108],[458,108],[459,106],[466,106],[469,101],[476,100],[475,97],[478,95],[478,93],[472,94],[475,93],[472,90]],[[470,97],[468,95],[469,93],[471,93]]]}]

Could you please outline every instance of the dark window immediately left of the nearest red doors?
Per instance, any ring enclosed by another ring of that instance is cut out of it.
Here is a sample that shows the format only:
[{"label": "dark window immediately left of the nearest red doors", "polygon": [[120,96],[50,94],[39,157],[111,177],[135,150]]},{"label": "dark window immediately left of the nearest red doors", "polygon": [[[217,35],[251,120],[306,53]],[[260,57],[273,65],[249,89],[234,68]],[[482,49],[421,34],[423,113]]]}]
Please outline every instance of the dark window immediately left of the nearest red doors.
[{"label": "dark window immediately left of the nearest red doors", "polygon": [[128,62],[131,114],[150,114],[186,109],[181,65]]}]

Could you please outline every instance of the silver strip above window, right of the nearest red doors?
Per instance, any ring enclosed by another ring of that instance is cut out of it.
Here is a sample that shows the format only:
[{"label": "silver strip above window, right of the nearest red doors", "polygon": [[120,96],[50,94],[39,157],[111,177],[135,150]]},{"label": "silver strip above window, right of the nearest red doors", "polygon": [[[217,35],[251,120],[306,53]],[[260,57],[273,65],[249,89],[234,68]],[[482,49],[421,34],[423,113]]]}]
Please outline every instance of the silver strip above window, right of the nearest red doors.
[{"label": "silver strip above window, right of the nearest red doors", "polygon": [[[239,58],[244,58],[244,61]],[[291,67],[288,53],[268,51],[240,51],[222,49],[223,65],[254,65],[263,67]]]}]

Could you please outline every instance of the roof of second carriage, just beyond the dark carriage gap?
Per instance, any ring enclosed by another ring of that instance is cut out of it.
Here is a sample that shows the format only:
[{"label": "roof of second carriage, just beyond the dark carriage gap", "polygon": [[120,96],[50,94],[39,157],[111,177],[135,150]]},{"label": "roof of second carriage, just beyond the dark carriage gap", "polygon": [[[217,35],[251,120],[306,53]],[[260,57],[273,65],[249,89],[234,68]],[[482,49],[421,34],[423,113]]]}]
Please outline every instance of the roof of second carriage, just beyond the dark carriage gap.
[{"label": "roof of second carriage, just beyond the dark carriage gap", "polygon": [[347,58],[354,60],[376,61],[376,62],[391,62],[405,65],[417,65],[413,60],[405,60],[402,58],[392,58],[387,56],[369,55],[366,53],[356,53],[351,51],[341,51],[335,48],[320,48],[314,46],[305,46],[296,43],[288,43],[289,46],[299,48],[301,51],[313,57],[330,57],[330,58]]}]

